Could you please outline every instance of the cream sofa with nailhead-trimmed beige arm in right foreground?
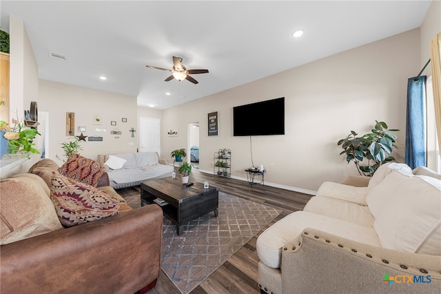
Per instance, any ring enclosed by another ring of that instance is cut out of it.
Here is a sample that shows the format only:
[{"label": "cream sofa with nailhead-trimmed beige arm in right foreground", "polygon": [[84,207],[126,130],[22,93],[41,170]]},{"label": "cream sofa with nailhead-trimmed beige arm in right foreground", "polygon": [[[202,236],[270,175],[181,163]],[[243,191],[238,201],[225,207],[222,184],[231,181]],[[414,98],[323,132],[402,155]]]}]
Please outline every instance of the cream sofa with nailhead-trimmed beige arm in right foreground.
[{"label": "cream sofa with nailhead-trimmed beige arm in right foreground", "polygon": [[441,293],[441,175],[384,164],[368,181],[323,183],[258,237],[261,293]]}]

